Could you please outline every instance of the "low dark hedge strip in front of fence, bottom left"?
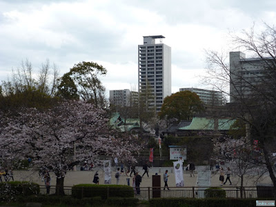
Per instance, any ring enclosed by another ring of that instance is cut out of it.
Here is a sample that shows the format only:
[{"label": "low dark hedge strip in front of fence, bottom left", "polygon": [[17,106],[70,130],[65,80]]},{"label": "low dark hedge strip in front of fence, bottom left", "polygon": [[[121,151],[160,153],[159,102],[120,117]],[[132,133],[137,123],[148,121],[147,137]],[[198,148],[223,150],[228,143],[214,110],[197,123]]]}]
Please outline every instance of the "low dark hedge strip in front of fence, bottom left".
[{"label": "low dark hedge strip in front of fence, bottom left", "polygon": [[[56,195],[37,195],[29,197],[18,197],[17,202],[20,203],[41,203],[43,205],[68,205],[68,206],[101,206],[106,204],[108,206],[137,206],[139,199],[137,198],[121,198],[110,197],[106,200],[101,197],[90,197],[83,199],[76,199],[69,195],[56,196]],[[1,203],[0,203],[1,205]]]}]

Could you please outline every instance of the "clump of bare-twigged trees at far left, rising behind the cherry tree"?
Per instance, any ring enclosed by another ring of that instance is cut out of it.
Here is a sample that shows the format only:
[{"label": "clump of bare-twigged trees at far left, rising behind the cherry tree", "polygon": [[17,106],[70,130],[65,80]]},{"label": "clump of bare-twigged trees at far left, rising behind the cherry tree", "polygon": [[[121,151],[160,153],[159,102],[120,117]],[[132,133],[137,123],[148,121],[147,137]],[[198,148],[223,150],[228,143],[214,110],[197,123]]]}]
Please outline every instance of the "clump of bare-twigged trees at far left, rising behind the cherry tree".
[{"label": "clump of bare-twigged trees at far left, rising behind the cherry tree", "polygon": [[41,63],[39,71],[33,72],[32,63],[21,62],[7,81],[0,86],[0,109],[48,108],[55,103],[58,70],[55,63],[50,66],[47,59]]}]

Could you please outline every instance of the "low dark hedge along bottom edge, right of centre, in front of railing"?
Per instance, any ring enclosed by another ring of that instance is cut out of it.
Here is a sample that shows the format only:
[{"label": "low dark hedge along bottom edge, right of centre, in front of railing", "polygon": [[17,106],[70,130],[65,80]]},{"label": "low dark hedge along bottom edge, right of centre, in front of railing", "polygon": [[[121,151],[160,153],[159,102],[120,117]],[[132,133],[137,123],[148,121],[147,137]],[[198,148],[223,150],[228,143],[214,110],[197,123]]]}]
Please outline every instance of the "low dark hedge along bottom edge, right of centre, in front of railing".
[{"label": "low dark hedge along bottom edge, right of centre, in front of railing", "polygon": [[235,206],[256,206],[256,199],[230,199],[230,198],[158,198],[150,199],[150,206],[193,206],[193,207],[235,207]]}]

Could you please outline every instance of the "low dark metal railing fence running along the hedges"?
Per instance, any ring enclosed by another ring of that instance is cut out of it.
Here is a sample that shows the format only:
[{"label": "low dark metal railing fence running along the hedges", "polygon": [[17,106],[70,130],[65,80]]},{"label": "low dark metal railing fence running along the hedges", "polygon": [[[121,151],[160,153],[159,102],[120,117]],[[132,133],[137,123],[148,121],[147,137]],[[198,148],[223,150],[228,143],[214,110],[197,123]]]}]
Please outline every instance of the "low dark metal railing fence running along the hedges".
[{"label": "low dark metal railing fence running along the hedges", "polygon": [[[226,187],[220,189],[213,189],[212,194],[206,192],[206,188],[200,188],[200,187],[170,187],[170,190],[164,190],[164,188],[152,188],[152,187],[141,187],[141,188],[134,188],[134,195],[139,200],[146,200],[152,199],[154,197],[186,197],[186,198],[206,198],[206,197],[227,197],[227,198],[273,198],[273,189],[271,188],[262,188],[257,189],[256,186],[253,187]],[[83,195],[87,195],[85,187],[79,189],[79,195],[80,198],[83,198]],[[91,190],[90,190],[91,191]],[[116,190],[119,191],[118,189]],[[126,191],[126,189],[124,189]],[[223,193],[221,193],[223,191]],[[64,187],[63,192],[65,195],[72,195],[72,188],[71,187]],[[209,191],[210,192],[210,191]],[[224,193],[225,192],[225,193]],[[51,186],[50,189],[46,188],[45,186],[40,186],[40,193],[42,195],[46,194],[56,194],[56,188],[55,186]],[[112,190],[107,188],[107,190],[104,190],[102,194],[103,197],[108,198],[110,195],[114,195],[112,193]],[[93,197],[93,193],[90,192],[91,197]],[[97,195],[99,195],[99,192],[97,192]],[[124,195],[124,193],[123,193]]]}]

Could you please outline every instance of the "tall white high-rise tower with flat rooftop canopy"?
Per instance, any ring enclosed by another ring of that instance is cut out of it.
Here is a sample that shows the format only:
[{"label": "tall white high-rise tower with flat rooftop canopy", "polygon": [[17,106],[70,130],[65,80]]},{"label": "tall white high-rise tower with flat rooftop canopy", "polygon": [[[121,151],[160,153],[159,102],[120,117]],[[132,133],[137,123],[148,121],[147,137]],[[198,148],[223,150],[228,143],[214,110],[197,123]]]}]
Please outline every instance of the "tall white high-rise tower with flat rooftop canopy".
[{"label": "tall white high-rise tower with flat rooftop canopy", "polygon": [[[138,46],[139,92],[150,90],[148,103],[160,110],[165,97],[171,95],[171,49],[162,43],[162,35],[144,36],[144,44]],[[160,39],[155,43],[155,39]]]}]

